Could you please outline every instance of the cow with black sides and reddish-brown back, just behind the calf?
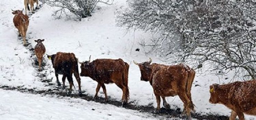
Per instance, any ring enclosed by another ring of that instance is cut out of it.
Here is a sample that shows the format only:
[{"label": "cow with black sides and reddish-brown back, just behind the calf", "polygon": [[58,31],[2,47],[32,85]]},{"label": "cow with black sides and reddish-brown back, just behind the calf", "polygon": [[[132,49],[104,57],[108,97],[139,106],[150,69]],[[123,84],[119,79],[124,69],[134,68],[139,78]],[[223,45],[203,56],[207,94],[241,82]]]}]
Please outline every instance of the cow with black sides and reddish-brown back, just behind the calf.
[{"label": "cow with black sides and reddish-brown back, just behind the calf", "polygon": [[62,82],[63,82],[63,88],[65,88],[65,79],[67,77],[69,81],[69,92],[68,95],[71,94],[72,85],[73,84],[73,78],[72,74],[74,73],[74,76],[76,78],[76,81],[79,86],[79,94],[82,94],[81,91],[81,79],[79,76],[78,66],[77,66],[77,59],[73,53],[61,53],[58,52],[54,55],[47,55],[47,58],[52,61],[53,68],[55,70],[55,76],[57,78],[57,84],[60,86],[58,74],[63,75],[62,76]]}]

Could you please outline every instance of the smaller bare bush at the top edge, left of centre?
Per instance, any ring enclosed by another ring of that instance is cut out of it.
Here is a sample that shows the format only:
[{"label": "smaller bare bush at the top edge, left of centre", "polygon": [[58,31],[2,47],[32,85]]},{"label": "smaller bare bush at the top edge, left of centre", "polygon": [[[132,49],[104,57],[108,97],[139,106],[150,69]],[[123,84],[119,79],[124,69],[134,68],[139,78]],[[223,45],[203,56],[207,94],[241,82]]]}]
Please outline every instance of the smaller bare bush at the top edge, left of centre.
[{"label": "smaller bare bush at the top edge, left of centre", "polygon": [[63,13],[67,15],[65,9],[68,9],[78,17],[86,18],[91,16],[91,13],[98,3],[112,4],[110,0],[42,0],[42,2],[50,6],[59,7],[54,13],[54,16],[58,14],[58,18],[60,18]]}]

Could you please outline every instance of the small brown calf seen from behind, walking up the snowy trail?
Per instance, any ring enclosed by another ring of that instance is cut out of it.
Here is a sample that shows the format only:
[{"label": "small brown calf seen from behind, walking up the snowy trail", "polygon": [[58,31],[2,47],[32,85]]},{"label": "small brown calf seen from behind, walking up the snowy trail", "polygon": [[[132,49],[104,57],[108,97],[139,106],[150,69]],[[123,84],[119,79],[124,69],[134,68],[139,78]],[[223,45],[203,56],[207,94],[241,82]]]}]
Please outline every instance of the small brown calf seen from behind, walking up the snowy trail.
[{"label": "small brown calf seen from behind, walking up the snowy trail", "polygon": [[45,47],[44,47],[44,44],[42,43],[43,41],[44,41],[44,39],[35,40],[35,42],[37,42],[37,45],[35,45],[34,51],[35,51],[35,55],[38,58],[39,71],[41,71],[41,63],[43,60],[43,56],[45,54]]}]

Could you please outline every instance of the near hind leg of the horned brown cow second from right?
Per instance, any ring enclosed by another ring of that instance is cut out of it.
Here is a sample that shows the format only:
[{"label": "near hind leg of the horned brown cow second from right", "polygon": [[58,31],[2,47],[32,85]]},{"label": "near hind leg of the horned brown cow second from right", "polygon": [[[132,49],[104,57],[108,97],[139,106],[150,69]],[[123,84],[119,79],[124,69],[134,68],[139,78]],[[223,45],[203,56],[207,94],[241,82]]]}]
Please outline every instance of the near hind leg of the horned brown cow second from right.
[{"label": "near hind leg of the horned brown cow second from right", "polygon": [[187,118],[191,119],[191,114],[190,114],[191,102],[187,97],[187,94],[184,91],[183,93],[179,93],[178,95],[182,100],[182,102],[185,104]]}]

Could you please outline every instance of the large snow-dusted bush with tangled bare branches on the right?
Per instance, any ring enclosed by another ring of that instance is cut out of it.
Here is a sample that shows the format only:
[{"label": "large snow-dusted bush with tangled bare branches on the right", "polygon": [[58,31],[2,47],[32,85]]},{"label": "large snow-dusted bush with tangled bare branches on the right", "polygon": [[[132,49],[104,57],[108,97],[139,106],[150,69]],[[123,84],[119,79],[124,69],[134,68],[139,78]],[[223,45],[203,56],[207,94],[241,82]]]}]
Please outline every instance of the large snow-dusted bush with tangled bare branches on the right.
[{"label": "large snow-dusted bush with tangled bare branches on the right", "polygon": [[256,3],[252,0],[128,0],[117,25],[154,33],[142,42],[173,62],[255,78]]}]

